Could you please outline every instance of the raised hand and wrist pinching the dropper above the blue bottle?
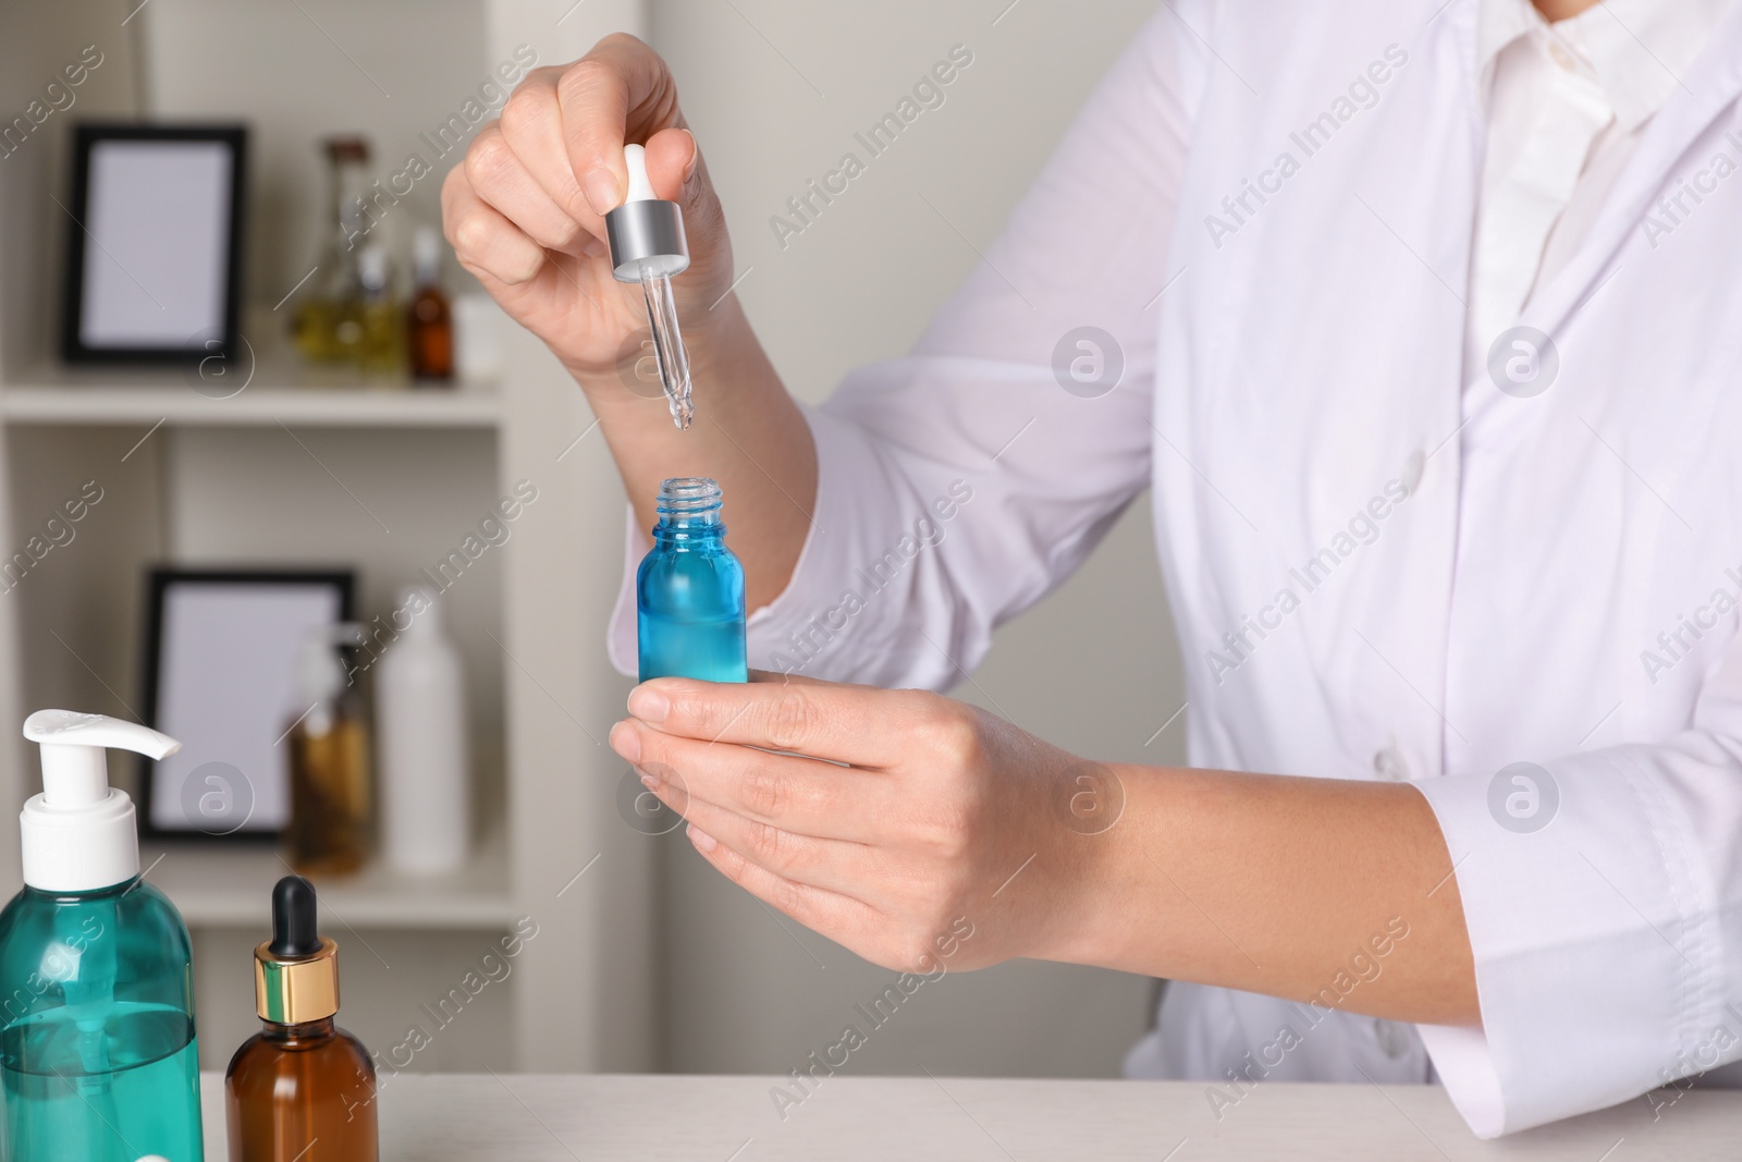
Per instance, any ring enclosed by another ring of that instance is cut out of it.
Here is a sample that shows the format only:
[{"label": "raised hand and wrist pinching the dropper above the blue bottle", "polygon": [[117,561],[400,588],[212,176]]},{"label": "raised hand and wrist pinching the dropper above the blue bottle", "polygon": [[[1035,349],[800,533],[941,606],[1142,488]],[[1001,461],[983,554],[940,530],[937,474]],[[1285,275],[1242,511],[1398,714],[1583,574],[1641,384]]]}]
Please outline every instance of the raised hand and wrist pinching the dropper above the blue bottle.
[{"label": "raised hand and wrist pinching the dropper above the blue bottle", "polygon": [[[690,242],[690,268],[672,279],[695,383],[695,423],[681,432],[646,375],[641,287],[611,277],[604,242],[604,214],[629,190],[625,141],[646,145],[653,192],[683,207]],[[665,63],[615,35],[566,68],[531,71],[448,174],[442,220],[460,263],[587,394],[636,523],[653,526],[662,479],[719,481],[749,606],[773,601],[810,531],[817,449],[732,294],[726,220]]]}]

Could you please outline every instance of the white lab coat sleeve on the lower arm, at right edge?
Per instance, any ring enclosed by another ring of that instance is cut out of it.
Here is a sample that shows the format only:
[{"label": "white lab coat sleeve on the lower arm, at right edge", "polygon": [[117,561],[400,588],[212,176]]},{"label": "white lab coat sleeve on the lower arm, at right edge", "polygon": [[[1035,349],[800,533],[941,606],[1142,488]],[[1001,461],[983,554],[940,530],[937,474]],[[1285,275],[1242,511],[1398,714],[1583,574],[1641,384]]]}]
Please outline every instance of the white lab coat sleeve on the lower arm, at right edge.
[{"label": "white lab coat sleeve on the lower arm, at right edge", "polygon": [[[1481,1028],[1421,1026],[1453,1103],[1484,1136],[1742,1059],[1742,638],[1686,730],[1416,784],[1456,866]],[[1535,782],[1543,782],[1536,779]],[[1549,822],[1496,822],[1523,794]]]}]

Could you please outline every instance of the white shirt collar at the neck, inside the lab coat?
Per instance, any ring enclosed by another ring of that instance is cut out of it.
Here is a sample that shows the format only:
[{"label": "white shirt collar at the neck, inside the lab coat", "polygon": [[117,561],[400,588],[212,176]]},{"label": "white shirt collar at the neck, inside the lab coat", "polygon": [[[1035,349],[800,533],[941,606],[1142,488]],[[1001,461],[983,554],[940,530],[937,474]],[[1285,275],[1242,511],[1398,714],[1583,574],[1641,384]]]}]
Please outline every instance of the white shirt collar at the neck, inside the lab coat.
[{"label": "white shirt collar at the neck, inside the lab coat", "polygon": [[[1683,87],[1733,0],[1604,0],[1549,23],[1531,0],[1482,0],[1475,70],[1521,37],[1554,40],[1601,87],[1624,132],[1643,125]],[[1486,84],[1482,84],[1486,89]]]}]

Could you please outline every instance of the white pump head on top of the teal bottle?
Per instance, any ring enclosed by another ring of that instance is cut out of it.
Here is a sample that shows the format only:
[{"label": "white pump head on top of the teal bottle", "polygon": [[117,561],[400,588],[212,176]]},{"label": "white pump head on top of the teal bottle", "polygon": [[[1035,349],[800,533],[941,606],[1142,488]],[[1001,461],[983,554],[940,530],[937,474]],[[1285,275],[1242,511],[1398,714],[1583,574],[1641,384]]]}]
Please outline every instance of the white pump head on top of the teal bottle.
[{"label": "white pump head on top of the teal bottle", "polygon": [[24,737],[42,746],[42,794],[19,812],[24,883],[40,892],[94,892],[139,875],[132,800],[108,784],[105,749],[165,758],[181,744],[106,714],[37,711]]}]

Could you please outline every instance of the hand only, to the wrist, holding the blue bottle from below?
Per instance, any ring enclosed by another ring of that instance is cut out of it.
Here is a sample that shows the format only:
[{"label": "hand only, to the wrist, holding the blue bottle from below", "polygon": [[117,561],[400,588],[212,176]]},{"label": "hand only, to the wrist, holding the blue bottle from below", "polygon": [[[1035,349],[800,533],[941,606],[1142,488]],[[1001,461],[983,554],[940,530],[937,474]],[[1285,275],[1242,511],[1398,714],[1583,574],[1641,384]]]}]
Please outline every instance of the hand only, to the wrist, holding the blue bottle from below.
[{"label": "hand only, to the wrist, holding the blue bottle from below", "polygon": [[1064,751],[939,695],[772,674],[650,681],[629,713],[611,746],[697,850],[866,960],[934,972],[1068,949],[1097,836],[1059,814],[1092,810],[1061,787],[1094,793]]}]

